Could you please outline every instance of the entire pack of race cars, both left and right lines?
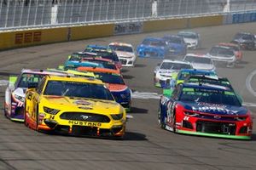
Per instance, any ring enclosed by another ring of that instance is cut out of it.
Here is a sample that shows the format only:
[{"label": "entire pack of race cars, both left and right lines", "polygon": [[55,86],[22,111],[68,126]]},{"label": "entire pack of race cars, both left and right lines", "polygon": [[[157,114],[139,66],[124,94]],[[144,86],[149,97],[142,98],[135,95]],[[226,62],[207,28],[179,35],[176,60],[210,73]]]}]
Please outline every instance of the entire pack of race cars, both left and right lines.
[{"label": "entire pack of race cars, both left and right lines", "polygon": [[[123,42],[88,45],[56,69],[24,69],[9,77],[4,115],[38,131],[123,138],[131,89],[121,68],[135,66],[137,56],[156,57],[163,58],[154,70],[154,85],[163,88],[160,127],[175,133],[251,139],[250,111],[241,105],[229,80],[215,72],[218,62],[231,67],[241,61],[241,48],[252,49],[246,44],[219,43],[208,54],[187,54],[187,48],[201,47],[201,37],[180,31],[147,37],[137,52]],[[170,56],[179,60],[164,59]]]}]

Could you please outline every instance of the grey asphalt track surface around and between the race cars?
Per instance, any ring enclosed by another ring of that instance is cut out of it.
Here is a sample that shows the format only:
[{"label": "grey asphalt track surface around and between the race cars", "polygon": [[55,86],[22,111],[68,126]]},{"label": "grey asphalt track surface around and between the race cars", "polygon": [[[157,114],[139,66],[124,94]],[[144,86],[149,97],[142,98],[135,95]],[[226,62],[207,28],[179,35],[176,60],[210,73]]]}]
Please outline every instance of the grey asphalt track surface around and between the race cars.
[{"label": "grey asphalt track surface around and between the race cars", "polygon": [[[255,31],[256,23],[196,28],[202,48],[207,52],[218,42],[230,42],[237,31]],[[177,31],[162,31],[76,42],[62,42],[0,52],[0,80],[21,68],[47,68],[60,65],[67,54],[86,44],[131,42],[137,46],[144,37],[162,37]],[[158,93],[153,86],[153,71],[160,59],[137,59],[135,68],[125,68],[125,81],[137,92]],[[247,90],[247,76],[256,69],[256,51],[245,51],[236,68],[218,68],[218,75],[229,77],[247,105],[256,96]],[[251,77],[256,89],[256,76]],[[216,139],[171,133],[157,122],[158,99],[133,99],[125,139],[92,139],[38,133],[22,123],[3,116],[4,86],[0,87],[0,170],[1,169],[256,169],[256,130],[249,141]],[[256,107],[250,106],[253,116]],[[255,125],[255,119],[254,119]]]}]

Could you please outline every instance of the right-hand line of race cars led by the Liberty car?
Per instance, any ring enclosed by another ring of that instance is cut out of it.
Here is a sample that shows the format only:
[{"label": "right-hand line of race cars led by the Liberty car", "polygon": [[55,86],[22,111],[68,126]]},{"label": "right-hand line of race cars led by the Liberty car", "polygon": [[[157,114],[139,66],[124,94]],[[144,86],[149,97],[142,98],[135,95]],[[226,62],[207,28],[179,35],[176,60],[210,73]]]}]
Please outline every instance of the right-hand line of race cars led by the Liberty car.
[{"label": "right-hand line of race cars led by the Liberty car", "polygon": [[231,67],[241,61],[243,45],[219,43],[208,54],[163,59],[154,69],[154,86],[163,88],[160,127],[175,133],[251,139],[251,113],[241,105],[241,96],[230,81],[218,77],[215,67],[217,62]]}]

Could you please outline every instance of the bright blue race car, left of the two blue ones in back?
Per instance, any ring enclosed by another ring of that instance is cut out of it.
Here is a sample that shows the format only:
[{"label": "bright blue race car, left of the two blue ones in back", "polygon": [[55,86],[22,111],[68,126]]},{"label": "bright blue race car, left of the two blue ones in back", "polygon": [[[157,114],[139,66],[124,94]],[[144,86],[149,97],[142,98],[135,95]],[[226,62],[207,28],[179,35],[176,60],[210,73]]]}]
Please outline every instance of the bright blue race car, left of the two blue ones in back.
[{"label": "bright blue race car, left of the two blue ones in back", "polygon": [[146,37],[137,46],[138,57],[164,58],[169,53],[169,48],[163,38]]}]

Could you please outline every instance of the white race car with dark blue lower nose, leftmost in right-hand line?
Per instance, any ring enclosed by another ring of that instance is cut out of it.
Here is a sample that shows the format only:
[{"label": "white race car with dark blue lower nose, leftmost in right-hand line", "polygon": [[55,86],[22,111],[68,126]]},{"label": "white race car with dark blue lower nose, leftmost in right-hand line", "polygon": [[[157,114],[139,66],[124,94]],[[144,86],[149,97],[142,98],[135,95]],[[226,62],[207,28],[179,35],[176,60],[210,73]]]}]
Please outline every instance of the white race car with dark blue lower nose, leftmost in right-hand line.
[{"label": "white race car with dark blue lower nose, leftmost in right-hand line", "polygon": [[154,71],[154,86],[166,88],[167,82],[172,79],[172,72],[181,69],[192,69],[192,65],[186,61],[164,59]]}]

